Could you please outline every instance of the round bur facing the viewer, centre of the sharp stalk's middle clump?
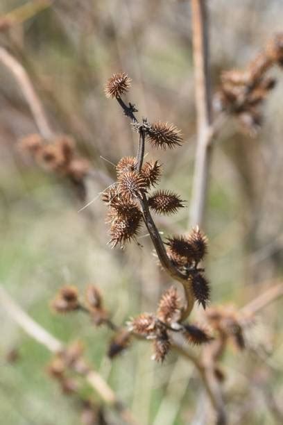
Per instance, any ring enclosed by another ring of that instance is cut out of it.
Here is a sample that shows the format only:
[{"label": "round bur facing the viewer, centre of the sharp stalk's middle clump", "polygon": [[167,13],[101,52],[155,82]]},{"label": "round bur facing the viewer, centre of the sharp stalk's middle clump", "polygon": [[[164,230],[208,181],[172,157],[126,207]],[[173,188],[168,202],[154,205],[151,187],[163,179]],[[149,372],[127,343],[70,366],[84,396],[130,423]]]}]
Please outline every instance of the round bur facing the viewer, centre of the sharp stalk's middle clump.
[{"label": "round bur facing the viewer, centre of the sharp stalk's middle clump", "polygon": [[119,192],[121,197],[127,201],[134,201],[141,198],[143,192],[146,192],[146,181],[141,174],[137,172],[126,172],[118,177]]}]

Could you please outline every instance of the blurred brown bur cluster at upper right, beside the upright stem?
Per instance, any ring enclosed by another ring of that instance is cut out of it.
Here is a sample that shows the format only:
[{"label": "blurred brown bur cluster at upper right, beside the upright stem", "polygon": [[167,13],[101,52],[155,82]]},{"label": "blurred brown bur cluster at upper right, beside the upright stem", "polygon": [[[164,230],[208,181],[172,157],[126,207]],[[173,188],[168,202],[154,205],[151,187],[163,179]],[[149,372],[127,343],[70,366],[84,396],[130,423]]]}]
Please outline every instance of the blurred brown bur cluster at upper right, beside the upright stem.
[{"label": "blurred brown bur cluster at upper right, beside the upright stem", "polygon": [[275,65],[283,66],[283,33],[275,35],[247,69],[221,74],[221,90],[216,94],[215,106],[235,115],[252,136],[257,135],[263,119],[259,106],[276,84],[275,78],[266,76]]}]

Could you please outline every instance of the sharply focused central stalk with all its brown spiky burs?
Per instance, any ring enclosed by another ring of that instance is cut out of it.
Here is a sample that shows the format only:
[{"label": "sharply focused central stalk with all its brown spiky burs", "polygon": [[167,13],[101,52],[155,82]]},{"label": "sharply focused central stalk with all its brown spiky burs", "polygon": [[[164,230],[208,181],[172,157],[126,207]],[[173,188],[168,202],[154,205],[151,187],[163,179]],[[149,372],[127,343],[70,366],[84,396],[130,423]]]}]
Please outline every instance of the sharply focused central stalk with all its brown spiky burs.
[{"label": "sharply focused central stalk with all its brown spiky burs", "polygon": [[[205,331],[184,321],[189,316],[194,302],[203,308],[209,301],[209,283],[204,269],[199,263],[207,253],[207,238],[198,226],[189,235],[173,235],[162,240],[151,213],[171,215],[184,208],[184,202],[175,192],[152,189],[160,183],[162,167],[158,160],[144,163],[145,142],[157,149],[173,149],[182,144],[182,135],[178,128],[167,122],[151,124],[148,119],[141,122],[135,117],[137,109],[128,105],[121,96],[130,88],[127,74],[114,74],[105,86],[108,99],[117,99],[123,112],[132,120],[132,127],[139,134],[137,156],[125,156],[117,163],[117,181],[103,192],[102,199],[108,206],[107,222],[110,223],[110,244],[120,244],[136,240],[143,224],[146,225],[161,266],[170,276],[182,283],[185,290],[186,305],[181,303],[175,288],[165,292],[157,313],[143,313],[130,322],[130,333],[153,339],[155,360],[164,360],[171,347],[174,332],[182,333],[185,340],[194,344],[208,342],[211,338]],[[125,337],[126,335],[126,337]],[[128,343],[128,335],[118,334],[112,347],[113,353],[121,351]],[[122,343],[119,343],[119,341]],[[117,342],[118,341],[118,342]],[[112,352],[110,349],[110,352]]]}]

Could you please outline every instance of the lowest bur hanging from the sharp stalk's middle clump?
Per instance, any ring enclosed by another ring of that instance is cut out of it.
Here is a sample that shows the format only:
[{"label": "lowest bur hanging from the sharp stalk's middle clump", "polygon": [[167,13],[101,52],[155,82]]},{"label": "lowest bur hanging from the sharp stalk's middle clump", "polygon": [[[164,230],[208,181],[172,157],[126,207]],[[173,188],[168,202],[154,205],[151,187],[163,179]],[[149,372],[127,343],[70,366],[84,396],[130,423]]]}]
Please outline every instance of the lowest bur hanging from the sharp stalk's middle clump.
[{"label": "lowest bur hanging from the sharp stalk's middle clump", "polygon": [[116,247],[117,244],[121,244],[123,247],[124,244],[135,238],[141,227],[141,217],[141,212],[136,209],[132,215],[126,215],[125,217],[117,215],[113,219],[110,228],[110,244],[112,248]]}]

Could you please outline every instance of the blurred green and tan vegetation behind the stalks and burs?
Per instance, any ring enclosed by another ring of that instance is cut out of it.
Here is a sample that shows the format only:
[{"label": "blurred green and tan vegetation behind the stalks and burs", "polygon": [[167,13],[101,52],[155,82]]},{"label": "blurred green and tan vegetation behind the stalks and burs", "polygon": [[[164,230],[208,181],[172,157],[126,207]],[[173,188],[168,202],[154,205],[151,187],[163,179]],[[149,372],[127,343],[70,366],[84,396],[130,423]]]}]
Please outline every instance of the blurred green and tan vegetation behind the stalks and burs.
[{"label": "blurred green and tan vegetation behind the stalks and burs", "polygon": [[[244,67],[275,31],[282,30],[281,0],[210,0],[212,79],[221,70]],[[21,6],[29,5],[28,9]],[[19,8],[19,9],[17,9]],[[16,12],[17,10],[17,12]],[[28,13],[26,13],[28,10]],[[188,229],[194,172],[196,117],[189,1],[1,0],[0,44],[31,76],[54,131],[74,136],[94,169],[114,178],[121,156],[135,155],[137,140],[114,101],[103,94],[113,72],[132,78],[129,99],[140,116],[173,122],[185,144],[149,151],[164,165],[162,188],[187,199],[188,208],[157,220],[164,234]],[[14,14],[14,15],[13,15]],[[25,15],[26,14],[26,15]],[[214,150],[209,181],[207,276],[212,304],[243,306],[282,274],[282,95],[283,73],[265,105],[257,138],[243,135],[232,119]],[[112,251],[101,201],[80,205],[60,178],[44,174],[17,151],[17,140],[37,131],[14,78],[0,65],[0,282],[40,324],[64,342],[83,340],[89,362],[101,372],[141,424],[197,423],[203,395],[193,365],[171,354],[151,361],[150,344],[137,342],[112,362],[111,337],[80,314],[58,317],[49,301],[63,284],[83,290],[94,283],[115,323],[155,310],[170,278],[160,272],[148,238]],[[88,197],[103,190],[89,181]],[[89,217],[89,213],[92,217]],[[144,231],[144,234],[146,231]],[[194,316],[201,321],[201,308]],[[0,415],[5,425],[80,423],[76,403],[46,374],[49,353],[0,311]],[[268,319],[267,319],[268,318]],[[266,391],[282,399],[280,304],[264,310],[252,335],[257,354],[228,351],[223,364],[231,424],[275,424]],[[8,361],[17,350],[17,361]],[[196,349],[197,350],[197,349]],[[115,424],[119,419],[112,418]],[[115,422],[116,421],[116,422]],[[112,422],[110,422],[112,423]],[[199,423],[199,422],[198,422]]]}]

